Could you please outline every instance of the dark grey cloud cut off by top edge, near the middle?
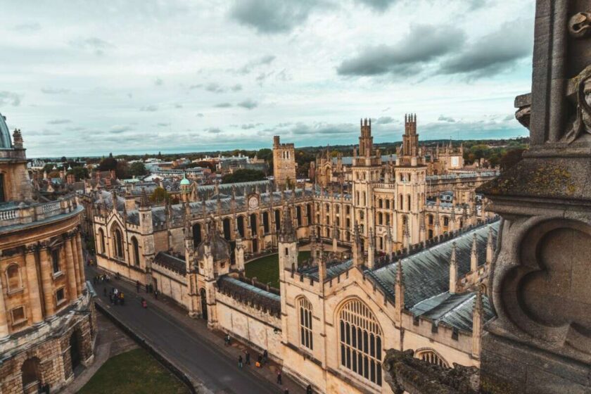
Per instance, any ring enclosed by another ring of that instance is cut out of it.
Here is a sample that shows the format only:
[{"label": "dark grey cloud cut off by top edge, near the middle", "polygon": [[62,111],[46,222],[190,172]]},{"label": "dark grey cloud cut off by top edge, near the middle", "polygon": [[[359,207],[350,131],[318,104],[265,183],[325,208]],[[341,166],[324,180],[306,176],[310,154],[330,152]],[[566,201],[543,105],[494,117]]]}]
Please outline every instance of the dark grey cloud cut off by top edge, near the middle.
[{"label": "dark grey cloud cut off by top edge, near the middle", "polygon": [[259,33],[289,32],[307,20],[317,0],[235,0],[230,16]]}]

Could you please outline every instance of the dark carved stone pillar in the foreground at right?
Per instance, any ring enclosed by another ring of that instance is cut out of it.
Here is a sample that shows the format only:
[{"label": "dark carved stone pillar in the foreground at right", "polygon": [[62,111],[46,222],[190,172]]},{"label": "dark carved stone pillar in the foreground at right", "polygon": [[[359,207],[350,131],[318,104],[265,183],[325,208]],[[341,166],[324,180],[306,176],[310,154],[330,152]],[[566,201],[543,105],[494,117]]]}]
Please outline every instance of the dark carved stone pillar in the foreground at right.
[{"label": "dark carved stone pillar in the foreground at right", "polygon": [[[530,150],[481,187],[502,216],[485,393],[590,393],[591,4],[538,0]],[[526,96],[516,100],[527,125]]]}]

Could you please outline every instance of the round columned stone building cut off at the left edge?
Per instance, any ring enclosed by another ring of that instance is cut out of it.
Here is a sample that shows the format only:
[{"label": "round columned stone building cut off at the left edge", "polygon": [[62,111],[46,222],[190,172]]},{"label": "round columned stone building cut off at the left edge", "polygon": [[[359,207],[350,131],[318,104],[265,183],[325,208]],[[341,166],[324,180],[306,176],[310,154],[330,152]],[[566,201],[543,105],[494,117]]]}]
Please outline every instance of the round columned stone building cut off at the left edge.
[{"label": "round columned stone building cut off at the left edge", "polygon": [[0,115],[0,393],[54,392],[93,360],[82,205],[35,201],[19,130]]}]

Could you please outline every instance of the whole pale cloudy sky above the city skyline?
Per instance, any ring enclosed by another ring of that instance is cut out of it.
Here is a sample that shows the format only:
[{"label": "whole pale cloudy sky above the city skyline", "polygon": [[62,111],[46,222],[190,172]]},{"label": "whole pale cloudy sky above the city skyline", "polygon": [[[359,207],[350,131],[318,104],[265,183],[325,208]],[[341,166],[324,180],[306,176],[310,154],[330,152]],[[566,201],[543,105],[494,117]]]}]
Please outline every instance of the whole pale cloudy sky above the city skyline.
[{"label": "whole pale cloudy sky above the city skyline", "polygon": [[1,1],[27,156],[525,136],[534,1]]}]

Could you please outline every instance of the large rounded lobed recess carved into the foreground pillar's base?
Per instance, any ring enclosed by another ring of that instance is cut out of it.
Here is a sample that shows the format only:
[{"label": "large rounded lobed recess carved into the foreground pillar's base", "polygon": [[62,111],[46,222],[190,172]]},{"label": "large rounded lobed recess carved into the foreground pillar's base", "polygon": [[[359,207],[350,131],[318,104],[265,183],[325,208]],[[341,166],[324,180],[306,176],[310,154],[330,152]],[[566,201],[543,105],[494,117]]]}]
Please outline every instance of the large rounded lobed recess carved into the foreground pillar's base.
[{"label": "large rounded lobed recess carved into the foreground pillar's base", "polygon": [[502,276],[497,312],[548,350],[589,360],[590,255],[591,227],[563,219],[533,225],[523,236],[519,261]]}]

